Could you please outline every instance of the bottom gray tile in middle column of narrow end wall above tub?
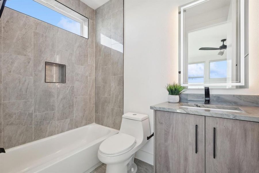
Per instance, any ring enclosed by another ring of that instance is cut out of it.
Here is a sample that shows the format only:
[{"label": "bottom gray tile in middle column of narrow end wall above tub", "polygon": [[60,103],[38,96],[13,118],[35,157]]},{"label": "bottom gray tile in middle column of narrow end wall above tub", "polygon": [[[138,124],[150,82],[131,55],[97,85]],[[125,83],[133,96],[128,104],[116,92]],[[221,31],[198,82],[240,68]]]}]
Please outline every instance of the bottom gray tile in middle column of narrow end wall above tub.
[{"label": "bottom gray tile in middle column of narrow end wall above tub", "polygon": [[101,125],[111,127],[111,97],[101,96]]}]

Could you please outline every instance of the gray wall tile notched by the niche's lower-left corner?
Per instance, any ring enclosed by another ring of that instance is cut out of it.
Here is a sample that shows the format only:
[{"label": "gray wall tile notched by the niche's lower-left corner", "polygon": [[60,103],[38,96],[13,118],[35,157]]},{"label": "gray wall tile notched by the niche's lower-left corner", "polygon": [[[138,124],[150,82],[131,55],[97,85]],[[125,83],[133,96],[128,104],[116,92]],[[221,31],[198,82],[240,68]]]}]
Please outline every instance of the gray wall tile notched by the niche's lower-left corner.
[{"label": "gray wall tile notched by the niche's lower-left corner", "polygon": [[34,73],[34,114],[52,112],[56,110],[56,85],[55,83],[45,83],[44,75],[44,73]]}]

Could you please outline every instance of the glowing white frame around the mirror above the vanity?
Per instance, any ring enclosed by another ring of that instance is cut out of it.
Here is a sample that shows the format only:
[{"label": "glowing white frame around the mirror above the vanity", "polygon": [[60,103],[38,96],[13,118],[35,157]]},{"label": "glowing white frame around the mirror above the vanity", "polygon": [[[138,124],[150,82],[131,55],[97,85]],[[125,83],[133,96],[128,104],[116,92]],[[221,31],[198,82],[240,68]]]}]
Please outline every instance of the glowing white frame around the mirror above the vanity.
[{"label": "glowing white frame around the mirror above the vanity", "polygon": [[[184,15],[181,15],[184,13],[184,10],[186,8],[189,8],[191,6],[203,3],[208,0],[193,0],[189,3],[186,3],[182,6],[179,6],[179,83],[181,83],[182,86],[196,86],[192,88],[196,89],[203,89],[204,86],[244,86],[245,85],[245,57],[248,55],[245,55],[245,7],[244,7],[244,0],[238,0],[240,4],[240,23],[239,23],[239,45],[240,45],[240,81],[239,82],[220,82],[220,83],[191,83],[186,84],[184,83]],[[248,43],[247,43],[248,44]],[[248,76],[246,76],[248,77]],[[228,87],[227,87],[228,88]]]}]

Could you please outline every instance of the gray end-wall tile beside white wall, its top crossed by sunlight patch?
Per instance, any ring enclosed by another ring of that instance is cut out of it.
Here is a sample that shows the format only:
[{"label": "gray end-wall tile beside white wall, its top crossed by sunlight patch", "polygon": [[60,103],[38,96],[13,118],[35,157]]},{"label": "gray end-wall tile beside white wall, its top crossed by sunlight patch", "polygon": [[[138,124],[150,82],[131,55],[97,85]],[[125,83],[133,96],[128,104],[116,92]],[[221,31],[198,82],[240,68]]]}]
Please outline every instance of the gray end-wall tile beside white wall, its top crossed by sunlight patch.
[{"label": "gray end-wall tile beside white wall, its top crossed by sunlight patch", "polygon": [[123,52],[116,50],[120,44],[112,45],[112,76],[123,75]]}]

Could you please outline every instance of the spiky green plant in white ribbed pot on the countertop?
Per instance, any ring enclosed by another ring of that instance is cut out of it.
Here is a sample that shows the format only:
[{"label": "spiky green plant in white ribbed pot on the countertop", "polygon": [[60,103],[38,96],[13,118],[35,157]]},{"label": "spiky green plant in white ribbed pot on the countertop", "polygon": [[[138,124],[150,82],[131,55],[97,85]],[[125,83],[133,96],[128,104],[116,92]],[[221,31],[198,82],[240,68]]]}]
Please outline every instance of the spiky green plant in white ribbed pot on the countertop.
[{"label": "spiky green plant in white ribbed pot on the countertop", "polygon": [[181,84],[173,82],[166,85],[166,90],[168,91],[168,102],[178,103],[179,94],[183,93],[186,86],[181,86]]}]

